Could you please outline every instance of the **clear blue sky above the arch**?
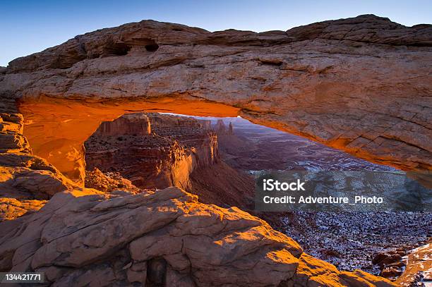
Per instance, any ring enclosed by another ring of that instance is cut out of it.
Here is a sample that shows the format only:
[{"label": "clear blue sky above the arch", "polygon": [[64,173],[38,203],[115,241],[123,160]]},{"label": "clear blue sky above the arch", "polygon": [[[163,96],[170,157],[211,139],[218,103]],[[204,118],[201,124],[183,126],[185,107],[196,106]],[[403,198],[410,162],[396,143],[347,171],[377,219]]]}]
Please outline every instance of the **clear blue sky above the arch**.
[{"label": "clear blue sky above the arch", "polygon": [[288,30],[361,14],[432,22],[431,0],[0,0],[0,66],[100,28],[153,19],[210,31]]}]

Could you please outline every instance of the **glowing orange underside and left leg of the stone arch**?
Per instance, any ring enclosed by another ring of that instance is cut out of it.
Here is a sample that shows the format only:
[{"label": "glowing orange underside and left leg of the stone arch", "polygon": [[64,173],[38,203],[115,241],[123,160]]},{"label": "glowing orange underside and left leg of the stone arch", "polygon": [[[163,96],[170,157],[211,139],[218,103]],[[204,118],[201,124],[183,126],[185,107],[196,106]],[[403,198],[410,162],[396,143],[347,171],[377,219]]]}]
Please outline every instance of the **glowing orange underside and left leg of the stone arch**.
[{"label": "glowing orange underside and left leg of the stone arch", "polygon": [[192,116],[237,116],[239,109],[197,99],[157,99],[83,102],[73,99],[40,99],[18,104],[25,118],[24,135],[33,154],[47,159],[78,183],[85,176],[85,140],[102,121],[112,121],[136,111],[159,111]]}]

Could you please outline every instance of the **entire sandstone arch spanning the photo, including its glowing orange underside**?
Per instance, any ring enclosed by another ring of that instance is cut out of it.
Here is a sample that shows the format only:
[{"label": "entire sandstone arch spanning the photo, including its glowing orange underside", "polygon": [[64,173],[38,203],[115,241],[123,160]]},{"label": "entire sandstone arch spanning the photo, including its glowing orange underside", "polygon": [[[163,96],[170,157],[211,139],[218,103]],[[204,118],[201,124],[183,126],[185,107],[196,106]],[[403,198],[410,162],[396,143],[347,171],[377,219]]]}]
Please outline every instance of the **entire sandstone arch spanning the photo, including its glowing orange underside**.
[{"label": "entire sandstone arch spanning the photo, including its glowing orange underside", "polygon": [[145,20],[16,59],[0,83],[1,110],[18,103],[34,152],[72,178],[99,123],[140,110],[240,115],[380,164],[432,168],[431,25],[359,16],[256,33]]}]

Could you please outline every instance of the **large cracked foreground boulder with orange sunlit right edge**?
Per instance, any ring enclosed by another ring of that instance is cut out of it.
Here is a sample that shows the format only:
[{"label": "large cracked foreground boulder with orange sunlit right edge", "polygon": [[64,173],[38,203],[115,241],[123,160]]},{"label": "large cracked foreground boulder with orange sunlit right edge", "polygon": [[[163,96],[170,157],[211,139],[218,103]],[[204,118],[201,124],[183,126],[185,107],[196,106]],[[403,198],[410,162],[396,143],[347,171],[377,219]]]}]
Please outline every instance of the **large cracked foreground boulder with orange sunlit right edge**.
[{"label": "large cracked foreground boulder with orange sunlit right edge", "polygon": [[53,286],[392,286],[337,271],[265,221],[179,188],[69,190],[0,228],[0,270],[43,271]]}]

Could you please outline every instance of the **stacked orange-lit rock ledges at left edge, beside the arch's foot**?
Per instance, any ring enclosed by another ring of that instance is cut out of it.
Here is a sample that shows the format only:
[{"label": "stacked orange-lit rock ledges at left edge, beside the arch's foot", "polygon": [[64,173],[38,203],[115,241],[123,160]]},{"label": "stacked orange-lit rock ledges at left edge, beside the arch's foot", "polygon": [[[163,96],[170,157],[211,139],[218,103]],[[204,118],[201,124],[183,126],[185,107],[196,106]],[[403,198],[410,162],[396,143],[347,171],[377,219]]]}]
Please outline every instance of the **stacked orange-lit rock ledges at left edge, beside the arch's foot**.
[{"label": "stacked orange-lit rock ledges at left edge, beside the arch's foot", "polygon": [[76,187],[52,164],[32,155],[21,114],[0,114],[0,128],[0,221],[36,212],[55,193]]}]

